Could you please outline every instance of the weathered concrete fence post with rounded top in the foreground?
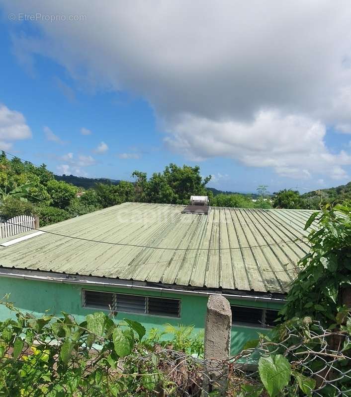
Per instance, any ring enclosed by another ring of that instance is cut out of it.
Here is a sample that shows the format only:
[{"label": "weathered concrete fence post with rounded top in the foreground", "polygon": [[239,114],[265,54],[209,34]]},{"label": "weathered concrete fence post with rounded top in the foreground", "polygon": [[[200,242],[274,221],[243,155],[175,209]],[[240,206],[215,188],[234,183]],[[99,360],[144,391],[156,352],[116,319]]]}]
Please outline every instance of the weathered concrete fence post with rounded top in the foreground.
[{"label": "weathered concrete fence post with rounded top in the foreground", "polygon": [[[226,395],[228,366],[223,360],[230,355],[232,311],[229,301],[222,295],[210,295],[207,302],[205,325],[205,390],[218,389],[220,396]],[[211,382],[212,381],[212,382]]]}]

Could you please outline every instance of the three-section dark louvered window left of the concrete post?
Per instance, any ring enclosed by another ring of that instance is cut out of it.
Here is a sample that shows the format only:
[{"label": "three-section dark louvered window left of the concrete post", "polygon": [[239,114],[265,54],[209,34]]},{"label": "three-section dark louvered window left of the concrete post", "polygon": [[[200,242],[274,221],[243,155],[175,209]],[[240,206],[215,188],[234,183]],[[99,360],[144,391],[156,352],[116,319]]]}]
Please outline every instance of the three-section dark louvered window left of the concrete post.
[{"label": "three-section dark louvered window left of the concrete post", "polygon": [[112,312],[180,317],[180,300],[83,290],[83,306]]}]

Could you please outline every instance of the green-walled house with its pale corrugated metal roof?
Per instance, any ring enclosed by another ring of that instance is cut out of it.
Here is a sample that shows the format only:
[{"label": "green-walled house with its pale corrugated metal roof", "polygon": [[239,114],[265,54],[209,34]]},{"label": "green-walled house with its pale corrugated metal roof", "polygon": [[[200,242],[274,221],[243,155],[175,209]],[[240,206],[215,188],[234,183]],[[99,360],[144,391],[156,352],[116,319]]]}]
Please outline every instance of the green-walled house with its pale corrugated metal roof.
[{"label": "green-walled house with its pale corrugated metal roof", "polygon": [[[232,351],[269,329],[309,251],[312,211],[124,203],[0,240],[16,307],[78,319],[110,309],[147,329],[203,329],[209,294],[232,305]],[[69,237],[68,237],[69,236]],[[0,319],[8,316],[0,307]]]}]

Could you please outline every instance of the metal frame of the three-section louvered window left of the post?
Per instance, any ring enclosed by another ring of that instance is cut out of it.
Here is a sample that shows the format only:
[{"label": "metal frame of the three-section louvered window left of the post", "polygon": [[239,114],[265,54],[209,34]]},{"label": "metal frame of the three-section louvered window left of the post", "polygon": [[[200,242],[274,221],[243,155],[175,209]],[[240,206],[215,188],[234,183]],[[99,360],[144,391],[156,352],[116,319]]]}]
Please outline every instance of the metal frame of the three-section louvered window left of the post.
[{"label": "metal frame of the three-section louvered window left of the post", "polygon": [[[108,293],[108,294],[112,294],[113,298],[113,308],[112,308],[112,312],[115,313],[117,312],[117,295],[126,295],[126,296],[138,296],[138,297],[143,297],[145,298],[145,313],[136,313],[136,312],[131,312],[131,311],[118,311],[118,313],[130,313],[130,314],[135,314],[138,316],[156,316],[156,317],[165,317],[165,318],[169,318],[169,319],[179,319],[181,316],[181,299],[177,299],[177,298],[165,298],[165,297],[160,297],[160,296],[147,296],[147,295],[139,295],[139,294],[126,294],[126,293],[120,293],[120,292],[110,292],[110,291],[101,291],[101,290],[97,290],[97,289],[87,289],[87,288],[82,288],[81,289],[81,298],[82,298],[82,307],[84,309],[99,309],[105,312],[110,312],[110,309],[104,309],[101,307],[94,307],[94,306],[87,306],[86,305],[86,291],[90,291],[90,292],[100,292],[100,293]],[[177,316],[168,316],[168,315],[161,315],[161,314],[149,314],[149,299],[148,298],[155,298],[155,299],[169,299],[169,300],[174,300],[178,302],[178,315]]]}]

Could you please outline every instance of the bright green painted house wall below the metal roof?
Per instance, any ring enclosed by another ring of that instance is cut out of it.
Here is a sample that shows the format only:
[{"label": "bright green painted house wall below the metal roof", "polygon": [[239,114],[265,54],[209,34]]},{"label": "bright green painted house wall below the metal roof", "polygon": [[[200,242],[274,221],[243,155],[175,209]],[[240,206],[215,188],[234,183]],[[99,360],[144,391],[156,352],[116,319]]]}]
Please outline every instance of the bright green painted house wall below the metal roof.
[{"label": "bright green painted house wall below the metal roof", "polygon": [[[12,302],[15,307],[23,312],[33,313],[35,316],[41,316],[44,313],[59,315],[61,311],[70,313],[78,321],[83,321],[89,313],[98,311],[98,309],[87,309],[82,306],[82,289],[98,291],[110,291],[119,293],[129,293],[133,295],[144,296],[162,296],[165,298],[177,298],[181,301],[180,317],[171,318],[166,316],[141,315],[133,313],[121,313],[116,316],[117,320],[129,318],[138,321],[144,325],[146,330],[151,328],[163,328],[163,325],[170,323],[172,325],[193,325],[194,332],[204,329],[207,297],[196,294],[176,294],[161,291],[146,291],[140,289],[128,288],[110,288],[83,286],[79,284],[65,284],[47,281],[24,280],[21,278],[11,278],[0,276],[0,299],[7,293],[10,294],[8,301]],[[250,300],[229,299],[232,305],[261,307],[269,309],[279,309],[280,305],[273,302],[253,302]],[[4,305],[0,305],[0,320],[14,316]],[[234,319],[233,319],[234,321]],[[233,326],[231,335],[231,352],[232,354],[240,351],[240,348],[247,340],[256,339],[259,332],[267,330],[255,327]]]}]

